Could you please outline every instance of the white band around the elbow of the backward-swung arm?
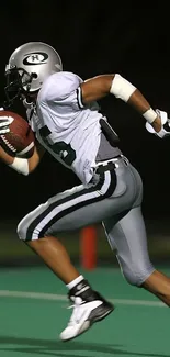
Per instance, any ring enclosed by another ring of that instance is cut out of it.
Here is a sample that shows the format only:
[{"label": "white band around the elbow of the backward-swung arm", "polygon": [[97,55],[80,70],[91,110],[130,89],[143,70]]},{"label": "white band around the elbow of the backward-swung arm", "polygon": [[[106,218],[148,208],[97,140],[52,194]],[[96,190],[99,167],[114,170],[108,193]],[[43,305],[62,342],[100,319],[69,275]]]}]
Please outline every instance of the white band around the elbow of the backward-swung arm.
[{"label": "white band around the elbow of the backward-swung arm", "polygon": [[112,80],[110,93],[115,96],[116,98],[122,99],[124,102],[127,102],[135,90],[136,87],[134,87],[128,80],[116,74]]}]

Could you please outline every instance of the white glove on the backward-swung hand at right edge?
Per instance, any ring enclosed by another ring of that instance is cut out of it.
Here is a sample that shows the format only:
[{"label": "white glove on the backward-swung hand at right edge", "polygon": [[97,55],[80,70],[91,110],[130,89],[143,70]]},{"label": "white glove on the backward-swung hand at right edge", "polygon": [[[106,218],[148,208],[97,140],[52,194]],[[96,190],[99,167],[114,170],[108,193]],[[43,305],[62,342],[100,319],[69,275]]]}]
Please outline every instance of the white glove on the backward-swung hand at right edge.
[{"label": "white glove on the backward-swung hand at right edge", "polygon": [[159,132],[156,132],[154,130],[154,127],[148,122],[146,122],[146,124],[145,124],[146,130],[149,133],[155,134],[155,135],[157,135],[157,136],[159,136],[161,138],[165,137],[165,136],[170,136],[170,119],[168,118],[167,112],[163,112],[163,111],[157,109],[156,113],[161,119],[161,130]]}]

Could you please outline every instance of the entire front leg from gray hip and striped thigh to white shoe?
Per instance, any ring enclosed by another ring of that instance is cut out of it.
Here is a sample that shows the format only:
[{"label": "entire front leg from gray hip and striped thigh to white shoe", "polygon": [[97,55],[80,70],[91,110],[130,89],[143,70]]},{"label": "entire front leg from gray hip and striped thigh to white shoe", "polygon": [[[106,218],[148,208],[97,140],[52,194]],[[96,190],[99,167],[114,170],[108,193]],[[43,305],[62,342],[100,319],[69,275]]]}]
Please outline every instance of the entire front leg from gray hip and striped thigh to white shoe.
[{"label": "entire front leg from gray hip and striped thigh to white shoe", "polygon": [[[116,169],[115,166],[113,169],[111,163],[100,165],[98,178],[93,183],[55,196],[27,214],[19,224],[20,238],[26,241],[69,287],[72,285],[72,281],[68,283],[70,260],[52,236],[101,222],[109,216],[115,216],[117,212],[125,215],[124,210],[131,210],[136,197],[140,196],[140,180],[123,158],[117,161]],[[75,302],[75,309],[70,323],[61,334],[65,341],[76,337],[89,328],[92,322],[103,319],[113,310],[113,306],[94,294],[94,291],[90,290],[89,294],[89,285],[87,287],[83,282],[80,290],[79,287],[77,283],[70,289],[69,295]]]}]

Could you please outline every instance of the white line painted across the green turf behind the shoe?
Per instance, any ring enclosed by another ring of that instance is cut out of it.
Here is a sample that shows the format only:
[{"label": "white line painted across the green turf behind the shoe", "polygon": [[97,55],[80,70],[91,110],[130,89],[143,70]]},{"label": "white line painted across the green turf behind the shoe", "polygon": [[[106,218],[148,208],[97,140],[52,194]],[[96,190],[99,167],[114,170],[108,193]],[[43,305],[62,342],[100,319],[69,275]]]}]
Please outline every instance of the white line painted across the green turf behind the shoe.
[{"label": "white line painted across the green turf behind the shoe", "polygon": [[[67,295],[61,295],[56,293],[34,292],[34,291],[0,290],[0,298],[21,298],[21,299],[46,300],[46,301],[68,301]],[[122,305],[166,308],[166,305],[160,301],[131,300],[131,299],[107,299],[107,300],[110,300],[114,304],[122,304]]]}]

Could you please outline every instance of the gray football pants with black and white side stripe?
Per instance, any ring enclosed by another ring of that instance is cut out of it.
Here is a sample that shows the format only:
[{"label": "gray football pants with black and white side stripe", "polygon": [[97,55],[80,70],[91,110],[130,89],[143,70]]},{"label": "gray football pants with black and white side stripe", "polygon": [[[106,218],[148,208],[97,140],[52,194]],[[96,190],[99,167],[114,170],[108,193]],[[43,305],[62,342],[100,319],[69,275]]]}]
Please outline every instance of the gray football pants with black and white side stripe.
[{"label": "gray football pants with black and white side stripe", "polygon": [[20,222],[18,234],[32,241],[102,222],[124,277],[140,286],[155,270],[140,210],[143,183],[131,164],[123,158],[116,164],[115,170],[95,175],[93,183],[58,193],[37,207]]}]

